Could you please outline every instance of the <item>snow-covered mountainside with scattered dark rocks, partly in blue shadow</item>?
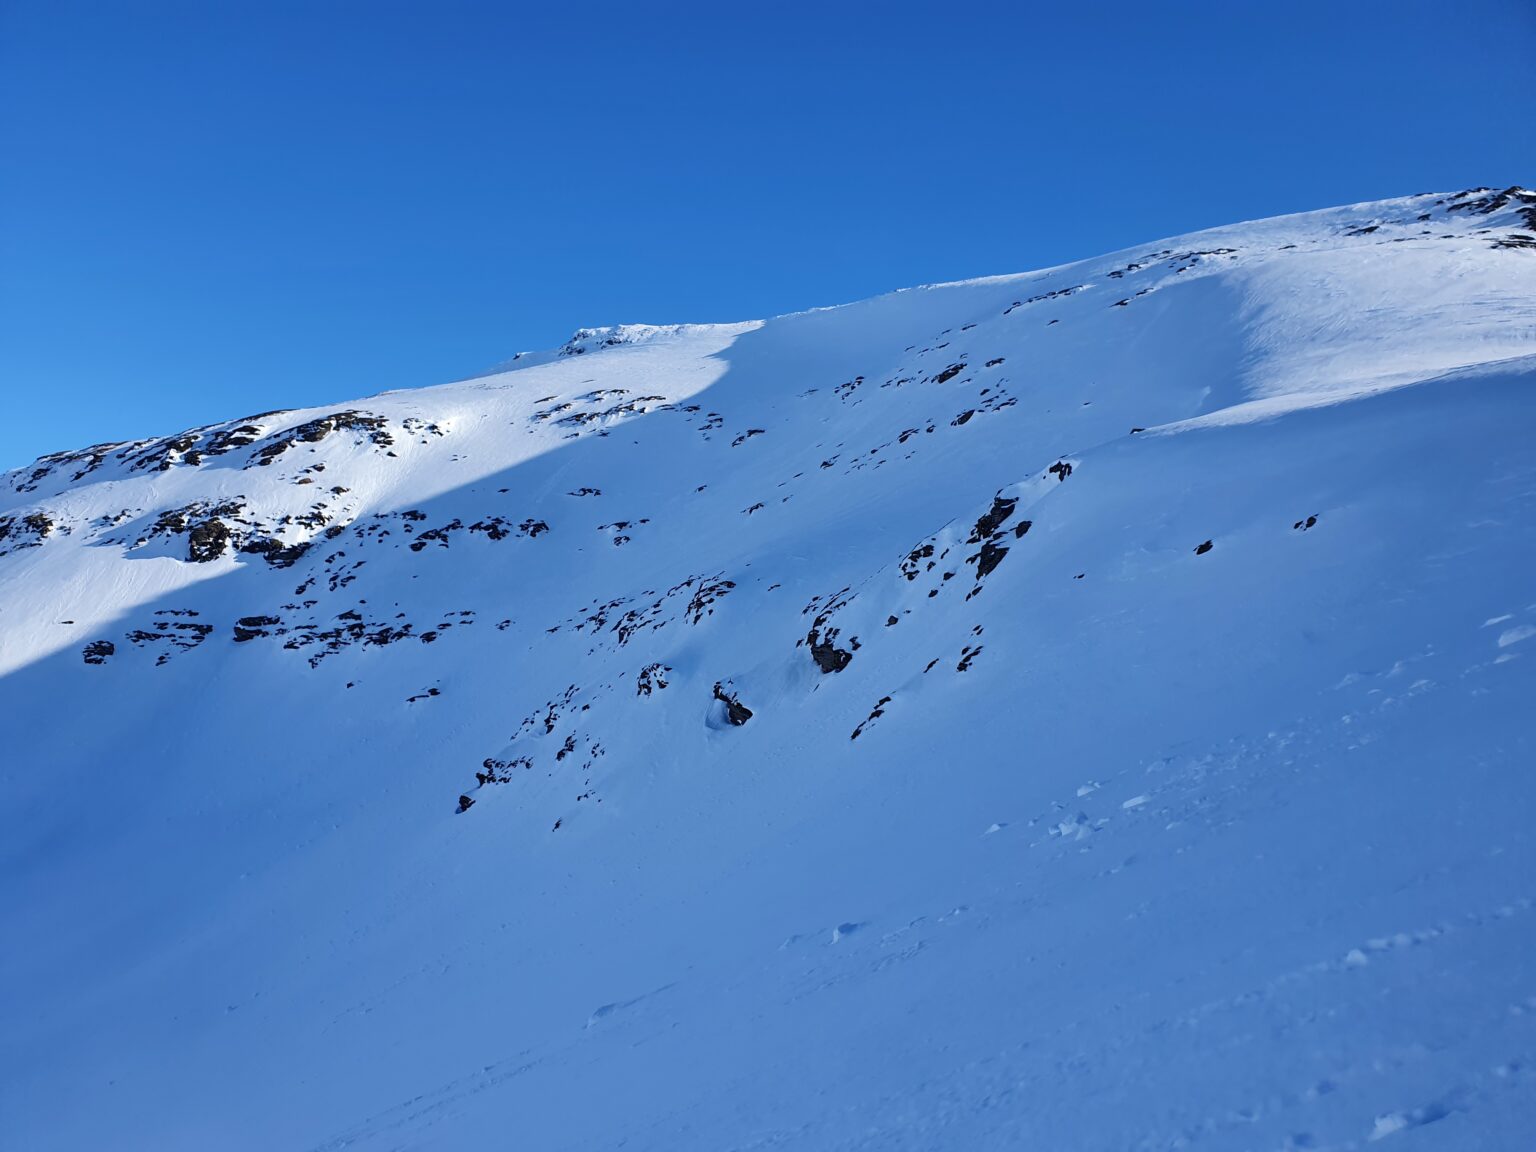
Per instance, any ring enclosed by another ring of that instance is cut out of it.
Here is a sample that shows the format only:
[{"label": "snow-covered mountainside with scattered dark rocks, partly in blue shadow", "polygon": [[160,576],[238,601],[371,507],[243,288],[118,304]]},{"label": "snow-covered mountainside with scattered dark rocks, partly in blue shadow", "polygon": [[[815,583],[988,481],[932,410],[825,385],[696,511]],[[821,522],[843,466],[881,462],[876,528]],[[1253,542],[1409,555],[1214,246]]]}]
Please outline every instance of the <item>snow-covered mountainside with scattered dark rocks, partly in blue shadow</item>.
[{"label": "snow-covered mountainside with scattered dark rocks, partly in blue shadow", "polygon": [[0,1144],[1527,1146],[1533,233],[1359,204],[6,475]]}]

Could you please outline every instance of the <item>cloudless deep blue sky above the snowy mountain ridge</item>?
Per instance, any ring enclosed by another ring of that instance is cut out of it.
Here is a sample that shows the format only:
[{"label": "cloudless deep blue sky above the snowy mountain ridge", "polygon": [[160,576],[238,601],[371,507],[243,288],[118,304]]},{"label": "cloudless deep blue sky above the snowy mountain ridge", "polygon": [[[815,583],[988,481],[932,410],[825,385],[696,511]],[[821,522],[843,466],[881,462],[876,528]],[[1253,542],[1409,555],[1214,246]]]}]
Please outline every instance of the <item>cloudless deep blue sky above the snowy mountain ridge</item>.
[{"label": "cloudless deep blue sky above the snowy mountain ridge", "polygon": [[0,0],[0,467],[1536,180],[1533,0],[554,9]]}]

